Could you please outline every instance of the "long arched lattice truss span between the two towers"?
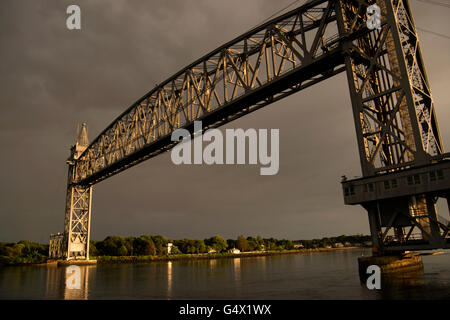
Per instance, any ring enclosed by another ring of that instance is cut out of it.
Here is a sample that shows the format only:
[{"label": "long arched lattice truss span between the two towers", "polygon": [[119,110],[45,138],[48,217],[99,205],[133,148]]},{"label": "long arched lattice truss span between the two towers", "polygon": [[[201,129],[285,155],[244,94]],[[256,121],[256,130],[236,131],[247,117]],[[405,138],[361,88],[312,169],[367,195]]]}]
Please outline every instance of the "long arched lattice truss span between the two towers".
[{"label": "long arched lattice truss span between the two towers", "polygon": [[221,46],[111,123],[76,161],[94,184],[173,147],[171,132],[217,127],[345,71],[335,1],[314,0]]}]

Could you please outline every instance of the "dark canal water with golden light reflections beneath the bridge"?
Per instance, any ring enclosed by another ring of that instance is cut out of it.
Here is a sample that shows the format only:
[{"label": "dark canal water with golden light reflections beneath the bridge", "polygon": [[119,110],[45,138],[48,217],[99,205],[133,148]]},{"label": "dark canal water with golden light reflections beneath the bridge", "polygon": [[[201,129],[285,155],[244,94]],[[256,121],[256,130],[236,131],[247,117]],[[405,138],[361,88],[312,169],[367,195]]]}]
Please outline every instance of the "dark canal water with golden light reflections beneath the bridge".
[{"label": "dark canal water with golden light reflections beneath the bridge", "polygon": [[0,299],[450,299],[450,250],[424,256],[423,273],[382,276],[380,290],[359,282],[362,253],[81,266],[80,289],[66,267],[1,267]]}]

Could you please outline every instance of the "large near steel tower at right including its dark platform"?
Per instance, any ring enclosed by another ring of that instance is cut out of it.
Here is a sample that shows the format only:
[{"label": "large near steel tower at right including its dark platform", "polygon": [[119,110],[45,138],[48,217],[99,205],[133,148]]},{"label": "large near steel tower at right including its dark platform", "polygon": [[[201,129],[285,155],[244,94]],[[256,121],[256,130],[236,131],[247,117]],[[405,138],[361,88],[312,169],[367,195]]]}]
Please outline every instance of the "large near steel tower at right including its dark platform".
[{"label": "large near steel tower at right including its dark platform", "polygon": [[[381,9],[381,28],[352,37],[367,4]],[[343,178],[345,203],[367,210],[374,253],[449,248],[436,212],[439,197],[449,201],[449,154],[409,3],[339,1],[337,11],[363,174]]]}]

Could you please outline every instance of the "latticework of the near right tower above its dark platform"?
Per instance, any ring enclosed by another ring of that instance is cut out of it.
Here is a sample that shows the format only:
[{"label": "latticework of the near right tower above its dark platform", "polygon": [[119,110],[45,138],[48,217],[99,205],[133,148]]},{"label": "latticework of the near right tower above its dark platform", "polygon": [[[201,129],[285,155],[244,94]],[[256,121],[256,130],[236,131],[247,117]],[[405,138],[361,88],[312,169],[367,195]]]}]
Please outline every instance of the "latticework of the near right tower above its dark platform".
[{"label": "latticework of the near right tower above its dark platform", "polygon": [[443,153],[408,1],[339,1],[340,33],[366,29],[366,8],[373,3],[381,8],[381,30],[345,44],[364,176],[425,165],[431,156]]}]

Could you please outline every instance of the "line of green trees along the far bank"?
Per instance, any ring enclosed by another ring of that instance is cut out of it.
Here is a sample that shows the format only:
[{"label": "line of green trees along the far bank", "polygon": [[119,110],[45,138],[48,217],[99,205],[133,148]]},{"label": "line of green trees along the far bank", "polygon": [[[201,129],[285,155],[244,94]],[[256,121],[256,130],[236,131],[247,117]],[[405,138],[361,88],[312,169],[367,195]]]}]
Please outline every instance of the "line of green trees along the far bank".
[{"label": "line of green trees along the far bank", "polygon": [[[275,238],[244,237],[225,240],[221,236],[199,239],[172,240],[163,236],[142,235],[139,237],[108,236],[102,241],[90,241],[91,257],[96,256],[164,256],[168,254],[168,244],[172,243],[170,254],[225,253],[236,248],[241,252],[262,250],[292,250],[297,248],[314,249],[345,245],[366,246],[370,236],[352,235],[325,237],[312,240],[278,240]],[[48,245],[30,241],[0,242],[0,264],[22,264],[45,262]]]}]

